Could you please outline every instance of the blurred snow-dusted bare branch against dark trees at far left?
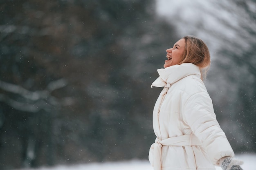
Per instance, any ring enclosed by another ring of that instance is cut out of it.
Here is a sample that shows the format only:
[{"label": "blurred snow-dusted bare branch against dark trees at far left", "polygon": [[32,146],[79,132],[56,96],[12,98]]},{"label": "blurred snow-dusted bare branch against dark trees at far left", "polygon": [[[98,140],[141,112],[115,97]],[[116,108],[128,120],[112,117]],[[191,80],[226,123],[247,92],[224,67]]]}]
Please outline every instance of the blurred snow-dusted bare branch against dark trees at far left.
[{"label": "blurred snow-dusted bare branch against dark trees at far left", "polygon": [[[4,91],[18,95],[16,99],[12,99],[8,95],[0,94],[0,101],[9,106],[22,111],[36,113],[39,110],[50,112],[53,107],[67,106],[74,104],[71,97],[64,99],[57,99],[51,95],[51,92],[67,85],[65,79],[58,79],[50,82],[46,90],[43,91],[29,91],[16,84],[3,82],[0,80],[0,88]],[[21,99],[20,99],[21,97]]]}]

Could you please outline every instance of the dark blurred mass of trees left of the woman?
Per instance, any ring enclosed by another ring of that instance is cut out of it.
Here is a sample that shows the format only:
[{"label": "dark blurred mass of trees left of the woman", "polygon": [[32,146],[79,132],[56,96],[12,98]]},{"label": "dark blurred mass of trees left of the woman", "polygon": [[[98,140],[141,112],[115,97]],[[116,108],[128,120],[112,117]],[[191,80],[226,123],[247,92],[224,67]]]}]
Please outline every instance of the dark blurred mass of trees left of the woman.
[{"label": "dark blurred mass of trees left of the woman", "polygon": [[159,93],[150,84],[177,40],[154,7],[0,2],[1,169],[147,158]]}]

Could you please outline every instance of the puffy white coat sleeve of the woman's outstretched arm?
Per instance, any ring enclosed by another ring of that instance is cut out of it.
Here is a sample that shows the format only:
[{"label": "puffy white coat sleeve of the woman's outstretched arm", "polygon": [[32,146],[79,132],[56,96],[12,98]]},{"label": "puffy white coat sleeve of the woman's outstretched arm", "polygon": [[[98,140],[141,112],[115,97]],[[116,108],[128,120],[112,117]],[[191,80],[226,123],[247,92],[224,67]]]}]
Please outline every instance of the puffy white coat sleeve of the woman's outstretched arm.
[{"label": "puffy white coat sleeve of the woman's outstretched arm", "polygon": [[189,97],[184,105],[184,121],[202,142],[213,165],[222,157],[234,157],[234,151],[216,120],[209,94],[196,93]]}]

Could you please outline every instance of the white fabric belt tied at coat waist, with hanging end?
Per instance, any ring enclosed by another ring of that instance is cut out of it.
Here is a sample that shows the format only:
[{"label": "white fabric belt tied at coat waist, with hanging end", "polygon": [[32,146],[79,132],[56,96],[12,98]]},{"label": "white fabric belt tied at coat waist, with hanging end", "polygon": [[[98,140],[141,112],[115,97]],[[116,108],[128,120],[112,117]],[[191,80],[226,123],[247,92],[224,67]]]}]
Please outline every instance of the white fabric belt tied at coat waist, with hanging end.
[{"label": "white fabric belt tied at coat waist, with hanging end", "polygon": [[155,143],[151,145],[148,159],[154,170],[161,170],[161,148],[162,146],[200,146],[202,143],[194,135],[182,135],[170,137],[167,139],[155,139]]}]

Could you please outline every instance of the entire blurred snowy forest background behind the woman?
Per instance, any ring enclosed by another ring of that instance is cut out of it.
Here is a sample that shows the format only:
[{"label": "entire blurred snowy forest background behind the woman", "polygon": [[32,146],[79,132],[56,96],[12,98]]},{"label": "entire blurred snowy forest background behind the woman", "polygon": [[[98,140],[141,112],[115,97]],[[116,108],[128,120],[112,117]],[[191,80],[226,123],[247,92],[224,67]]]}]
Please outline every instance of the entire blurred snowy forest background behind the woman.
[{"label": "entire blurred snowy forest background behind the woman", "polygon": [[256,0],[0,0],[0,169],[147,159],[150,88],[184,35],[234,148],[256,152]]}]

